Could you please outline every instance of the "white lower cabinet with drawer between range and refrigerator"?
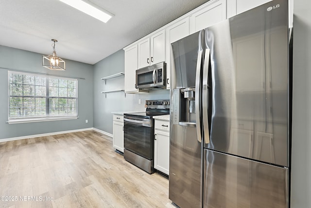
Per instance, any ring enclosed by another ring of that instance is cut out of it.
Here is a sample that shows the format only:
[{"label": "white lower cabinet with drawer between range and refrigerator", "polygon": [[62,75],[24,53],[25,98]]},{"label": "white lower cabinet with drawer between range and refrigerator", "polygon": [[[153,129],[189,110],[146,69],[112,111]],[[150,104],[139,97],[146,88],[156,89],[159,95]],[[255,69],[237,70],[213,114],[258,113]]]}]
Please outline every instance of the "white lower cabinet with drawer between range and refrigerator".
[{"label": "white lower cabinet with drawer between range and refrigerator", "polygon": [[170,122],[155,119],[154,168],[169,175],[170,166]]}]

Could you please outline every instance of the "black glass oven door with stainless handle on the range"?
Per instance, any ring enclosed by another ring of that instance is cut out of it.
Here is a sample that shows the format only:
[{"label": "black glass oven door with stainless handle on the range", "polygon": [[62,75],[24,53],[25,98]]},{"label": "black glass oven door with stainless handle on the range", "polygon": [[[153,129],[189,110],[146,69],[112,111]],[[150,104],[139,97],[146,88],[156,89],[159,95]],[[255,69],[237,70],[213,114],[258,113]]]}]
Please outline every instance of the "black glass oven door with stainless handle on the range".
[{"label": "black glass oven door with stainless handle on the range", "polygon": [[124,116],[124,149],[152,160],[154,155],[154,120]]}]

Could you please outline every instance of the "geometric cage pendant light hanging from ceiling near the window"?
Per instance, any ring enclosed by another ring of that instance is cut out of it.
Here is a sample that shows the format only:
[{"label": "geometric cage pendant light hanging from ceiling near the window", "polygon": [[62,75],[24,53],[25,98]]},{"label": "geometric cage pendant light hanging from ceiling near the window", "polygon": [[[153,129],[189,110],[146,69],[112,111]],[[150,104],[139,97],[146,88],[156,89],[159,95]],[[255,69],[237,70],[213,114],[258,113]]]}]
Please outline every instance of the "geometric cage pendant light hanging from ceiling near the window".
[{"label": "geometric cage pendant light hanging from ceiling near the window", "polygon": [[57,42],[57,40],[52,39],[52,41],[53,54],[49,56],[43,56],[42,65],[45,68],[51,70],[66,70],[65,61],[58,57],[55,51],[55,42]]}]

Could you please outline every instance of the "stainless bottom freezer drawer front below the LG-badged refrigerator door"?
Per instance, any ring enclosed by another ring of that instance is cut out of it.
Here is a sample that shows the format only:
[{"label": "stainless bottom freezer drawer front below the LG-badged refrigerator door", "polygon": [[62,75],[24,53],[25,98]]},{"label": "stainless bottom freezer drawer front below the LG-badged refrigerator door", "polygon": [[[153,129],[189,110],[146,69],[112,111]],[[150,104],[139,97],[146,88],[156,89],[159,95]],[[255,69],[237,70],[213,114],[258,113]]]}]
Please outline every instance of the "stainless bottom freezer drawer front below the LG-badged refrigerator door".
[{"label": "stainless bottom freezer drawer front below the LG-badged refrigerator door", "polygon": [[288,208],[288,169],[204,150],[204,208]]}]

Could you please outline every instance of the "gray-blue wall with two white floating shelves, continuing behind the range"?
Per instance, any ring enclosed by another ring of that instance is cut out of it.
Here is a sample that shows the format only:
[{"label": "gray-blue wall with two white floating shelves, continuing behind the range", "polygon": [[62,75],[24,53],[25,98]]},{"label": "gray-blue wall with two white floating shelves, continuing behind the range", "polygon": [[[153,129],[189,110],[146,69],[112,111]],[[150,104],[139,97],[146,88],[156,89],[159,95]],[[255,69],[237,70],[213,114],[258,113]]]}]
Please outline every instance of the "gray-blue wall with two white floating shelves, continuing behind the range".
[{"label": "gray-blue wall with two white floating shelves, continuing behind the range", "polygon": [[[124,89],[124,76],[118,76],[112,79],[102,80],[102,77],[124,72],[124,51],[118,52],[104,58],[94,65],[94,125],[93,127],[112,134],[111,112],[144,112],[144,104],[148,99],[170,99],[169,90],[155,90],[143,94],[126,94],[115,92],[105,95],[102,91],[112,91]],[[135,80],[133,80],[133,83]],[[141,104],[138,104],[138,100]]]}]

